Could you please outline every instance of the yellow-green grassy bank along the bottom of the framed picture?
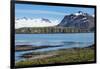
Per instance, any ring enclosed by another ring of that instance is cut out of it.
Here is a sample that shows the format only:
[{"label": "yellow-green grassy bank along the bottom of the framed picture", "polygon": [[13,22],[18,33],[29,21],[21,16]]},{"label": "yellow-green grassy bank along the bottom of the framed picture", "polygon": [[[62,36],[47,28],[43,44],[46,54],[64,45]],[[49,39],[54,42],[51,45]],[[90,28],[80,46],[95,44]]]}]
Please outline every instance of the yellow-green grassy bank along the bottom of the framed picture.
[{"label": "yellow-green grassy bank along the bottom of the framed picture", "polygon": [[89,62],[94,61],[94,46],[85,48],[71,48],[71,49],[61,49],[55,51],[48,51],[45,54],[53,54],[54,56],[37,58],[37,59],[26,59],[24,61],[16,62],[16,67],[24,66],[35,66],[41,64],[55,64],[55,63],[70,63],[70,62]]}]

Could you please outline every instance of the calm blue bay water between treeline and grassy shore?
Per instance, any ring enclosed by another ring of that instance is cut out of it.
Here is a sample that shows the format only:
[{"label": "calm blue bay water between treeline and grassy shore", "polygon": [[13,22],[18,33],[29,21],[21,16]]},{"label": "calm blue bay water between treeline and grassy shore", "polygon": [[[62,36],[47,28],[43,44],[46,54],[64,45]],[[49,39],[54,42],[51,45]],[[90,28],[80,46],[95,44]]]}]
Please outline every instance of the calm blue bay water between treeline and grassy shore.
[{"label": "calm blue bay water between treeline and grassy shore", "polygon": [[49,51],[63,48],[87,47],[94,44],[94,33],[67,33],[67,34],[15,34],[16,45],[33,46],[56,46],[61,47],[45,48],[24,52],[15,52],[15,60],[20,60],[18,56],[32,51]]}]

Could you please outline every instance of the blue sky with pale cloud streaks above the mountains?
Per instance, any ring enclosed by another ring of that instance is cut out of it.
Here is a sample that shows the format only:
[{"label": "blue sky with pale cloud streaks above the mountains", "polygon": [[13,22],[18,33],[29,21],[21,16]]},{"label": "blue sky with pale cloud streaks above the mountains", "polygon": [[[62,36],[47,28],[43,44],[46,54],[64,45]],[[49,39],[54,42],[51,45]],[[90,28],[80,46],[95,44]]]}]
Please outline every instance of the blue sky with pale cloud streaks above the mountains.
[{"label": "blue sky with pale cloud streaks above the mountains", "polygon": [[82,11],[94,14],[94,8],[83,7],[62,7],[62,6],[47,6],[47,5],[29,5],[29,4],[16,4],[15,5],[15,17],[29,17],[29,18],[47,18],[51,20],[61,21],[67,14],[77,13]]}]

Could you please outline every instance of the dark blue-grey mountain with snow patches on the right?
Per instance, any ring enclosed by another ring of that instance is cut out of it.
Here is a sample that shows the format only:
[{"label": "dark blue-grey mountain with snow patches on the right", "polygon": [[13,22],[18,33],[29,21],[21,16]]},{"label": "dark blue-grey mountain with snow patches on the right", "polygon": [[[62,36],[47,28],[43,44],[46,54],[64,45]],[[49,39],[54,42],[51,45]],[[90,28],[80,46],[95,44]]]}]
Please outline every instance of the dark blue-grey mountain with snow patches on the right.
[{"label": "dark blue-grey mountain with snow patches on the right", "polygon": [[58,26],[85,28],[90,30],[94,28],[94,16],[79,11],[78,13],[66,15]]}]

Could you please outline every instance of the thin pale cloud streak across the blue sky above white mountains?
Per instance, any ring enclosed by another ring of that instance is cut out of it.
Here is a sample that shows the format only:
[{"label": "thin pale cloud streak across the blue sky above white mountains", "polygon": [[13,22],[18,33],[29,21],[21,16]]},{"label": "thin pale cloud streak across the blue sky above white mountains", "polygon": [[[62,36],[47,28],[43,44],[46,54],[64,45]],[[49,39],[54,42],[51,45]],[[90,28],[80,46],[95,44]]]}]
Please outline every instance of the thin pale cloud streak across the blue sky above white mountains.
[{"label": "thin pale cloud streak across the blue sky above white mountains", "polygon": [[16,13],[28,13],[28,14],[52,14],[52,15],[67,15],[64,12],[47,11],[47,10],[16,10]]}]

